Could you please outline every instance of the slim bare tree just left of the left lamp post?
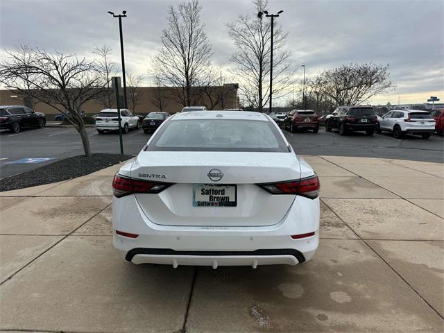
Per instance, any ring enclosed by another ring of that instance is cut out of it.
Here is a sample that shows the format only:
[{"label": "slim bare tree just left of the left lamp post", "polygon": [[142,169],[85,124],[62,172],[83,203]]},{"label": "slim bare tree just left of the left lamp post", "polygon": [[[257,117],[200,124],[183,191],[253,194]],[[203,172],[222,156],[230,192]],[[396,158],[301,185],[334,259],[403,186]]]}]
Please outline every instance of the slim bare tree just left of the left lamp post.
[{"label": "slim bare tree just left of the left lamp post", "polygon": [[96,63],[101,71],[101,74],[103,75],[103,79],[106,80],[106,90],[103,92],[103,94],[98,96],[98,100],[103,108],[112,108],[113,92],[111,89],[111,78],[117,74],[116,65],[110,60],[112,49],[110,46],[103,45],[101,47],[96,47],[93,53],[99,56]]}]

